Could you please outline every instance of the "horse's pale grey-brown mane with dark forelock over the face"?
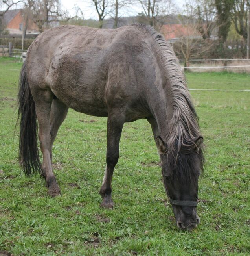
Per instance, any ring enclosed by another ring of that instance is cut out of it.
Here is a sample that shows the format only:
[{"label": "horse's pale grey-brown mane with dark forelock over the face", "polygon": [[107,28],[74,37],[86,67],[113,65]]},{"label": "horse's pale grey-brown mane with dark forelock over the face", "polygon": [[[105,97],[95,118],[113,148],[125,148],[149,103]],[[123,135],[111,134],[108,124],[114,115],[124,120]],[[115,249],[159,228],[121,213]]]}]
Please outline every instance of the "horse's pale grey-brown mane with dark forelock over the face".
[{"label": "horse's pale grey-brown mane with dark forelock over the face", "polygon": [[132,26],[138,26],[153,37],[152,48],[164,70],[163,88],[167,109],[171,111],[168,120],[169,132],[164,138],[167,141],[167,164],[171,169],[175,166],[176,175],[184,180],[197,176],[204,169],[203,143],[195,152],[195,143],[201,137],[200,128],[179,61],[172,46],[154,28],[143,24]]}]

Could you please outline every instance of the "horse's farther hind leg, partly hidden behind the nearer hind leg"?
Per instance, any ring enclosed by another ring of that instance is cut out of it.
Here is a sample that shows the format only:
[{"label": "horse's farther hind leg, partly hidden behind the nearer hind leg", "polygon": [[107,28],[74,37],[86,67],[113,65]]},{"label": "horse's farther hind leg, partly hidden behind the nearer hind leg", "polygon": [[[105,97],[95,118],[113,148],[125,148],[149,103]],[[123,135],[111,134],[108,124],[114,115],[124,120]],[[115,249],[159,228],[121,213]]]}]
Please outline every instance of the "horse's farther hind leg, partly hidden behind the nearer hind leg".
[{"label": "horse's farther hind leg, partly hidden behind the nearer hind leg", "polygon": [[[50,160],[52,163],[52,147],[57,132],[68,113],[68,106],[58,99],[53,99],[50,110]],[[42,170],[42,177],[46,179],[46,170]]]}]

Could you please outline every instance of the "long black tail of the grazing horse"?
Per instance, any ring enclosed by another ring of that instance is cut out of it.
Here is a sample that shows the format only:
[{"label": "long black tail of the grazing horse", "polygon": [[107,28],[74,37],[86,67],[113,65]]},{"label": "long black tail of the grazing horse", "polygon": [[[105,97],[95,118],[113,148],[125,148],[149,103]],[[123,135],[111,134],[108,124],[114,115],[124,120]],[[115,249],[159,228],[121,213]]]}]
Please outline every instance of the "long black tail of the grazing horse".
[{"label": "long black tail of the grazing horse", "polygon": [[26,61],[19,78],[18,119],[20,120],[19,163],[26,176],[41,171],[37,147],[37,115],[29,82],[27,80]]}]

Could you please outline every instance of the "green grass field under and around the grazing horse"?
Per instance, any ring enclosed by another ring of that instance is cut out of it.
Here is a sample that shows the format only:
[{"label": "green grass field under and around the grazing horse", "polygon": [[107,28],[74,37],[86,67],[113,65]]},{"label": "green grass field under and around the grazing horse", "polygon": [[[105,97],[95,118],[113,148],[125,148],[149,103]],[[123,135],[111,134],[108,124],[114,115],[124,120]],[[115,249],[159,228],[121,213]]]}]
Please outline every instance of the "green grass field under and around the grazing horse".
[{"label": "green grass field under and around the grazing horse", "polygon": [[[99,207],[106,118],[70,110],[53,146],[62,196],[18,167],[21,63],[0,58],[0,255],[249,255],[250,92],[191,91],[206,145],[193,232],[178,230],[147,121],[125,124],[113,210]],[[250,75],[189,73],[193,89],[250,89]]]}]

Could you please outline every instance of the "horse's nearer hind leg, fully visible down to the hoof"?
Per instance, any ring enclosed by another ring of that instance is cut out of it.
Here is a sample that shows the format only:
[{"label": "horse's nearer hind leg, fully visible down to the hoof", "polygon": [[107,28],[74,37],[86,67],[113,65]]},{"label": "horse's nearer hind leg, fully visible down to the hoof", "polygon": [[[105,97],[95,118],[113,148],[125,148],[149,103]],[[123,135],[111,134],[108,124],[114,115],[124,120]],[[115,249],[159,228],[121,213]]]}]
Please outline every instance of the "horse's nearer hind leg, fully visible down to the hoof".
[{"label": "horse's nearer hind leg, fully visible down to the hoof", "polygon": [[[43,161],[42,169],[46,173],[46,184],[48,193],[52,197],[61,194],[55,175],[52,170],[50,158],[51,135],[50,135],[50,112],[53,100],[53,93],[50,89],[33,88],[32,95],[35,101],[37,121],[39,124],[39,141],[42,151]],[[44,175],[45,176],[45,175]]]}]

